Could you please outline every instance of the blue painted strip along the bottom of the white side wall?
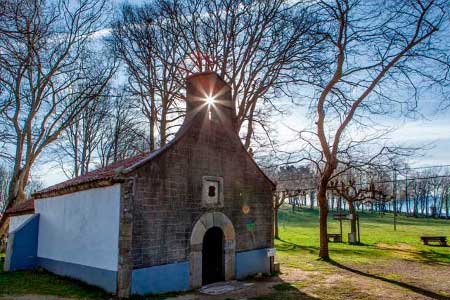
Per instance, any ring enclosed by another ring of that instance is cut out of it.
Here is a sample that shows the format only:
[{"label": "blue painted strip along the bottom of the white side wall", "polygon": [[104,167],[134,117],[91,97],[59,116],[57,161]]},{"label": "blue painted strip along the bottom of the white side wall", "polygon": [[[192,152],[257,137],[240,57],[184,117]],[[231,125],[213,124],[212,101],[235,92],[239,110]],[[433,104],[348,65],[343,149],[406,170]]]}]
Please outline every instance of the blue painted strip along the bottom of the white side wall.
[{"label": "blue painted strip along the bottom of the white side wall", "polygon": [[38,257],[37,260],[37,264],[49,272],[81,280],[88,284],[98,286],[110,293],[116,292],[116,271],[88,267],[42,257]]}]

